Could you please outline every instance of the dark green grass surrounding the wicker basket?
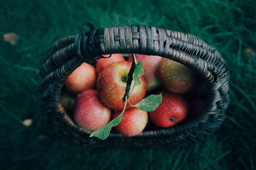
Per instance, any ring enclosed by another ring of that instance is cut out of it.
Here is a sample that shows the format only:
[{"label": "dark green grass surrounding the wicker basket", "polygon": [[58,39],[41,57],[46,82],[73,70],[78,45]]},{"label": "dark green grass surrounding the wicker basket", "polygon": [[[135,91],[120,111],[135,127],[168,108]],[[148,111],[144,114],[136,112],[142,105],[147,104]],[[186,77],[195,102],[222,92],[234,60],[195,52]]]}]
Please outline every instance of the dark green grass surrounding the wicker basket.
[{"label": "dark green grass surrounding the wicker basket", "polygon": [[[0,169],[256,169],[255,0],[0,1]],[[253,9],[254,8],[254,9]],[[49,134],[38,109],[36,73],[48,46],[95,27],[154,25],[216,47],[230,69],[230,105],[205,141],[176,148],[84,148]],[[22,121],[31,118],[29,127]],[[46,139],[39,136],[44,134]]]}]

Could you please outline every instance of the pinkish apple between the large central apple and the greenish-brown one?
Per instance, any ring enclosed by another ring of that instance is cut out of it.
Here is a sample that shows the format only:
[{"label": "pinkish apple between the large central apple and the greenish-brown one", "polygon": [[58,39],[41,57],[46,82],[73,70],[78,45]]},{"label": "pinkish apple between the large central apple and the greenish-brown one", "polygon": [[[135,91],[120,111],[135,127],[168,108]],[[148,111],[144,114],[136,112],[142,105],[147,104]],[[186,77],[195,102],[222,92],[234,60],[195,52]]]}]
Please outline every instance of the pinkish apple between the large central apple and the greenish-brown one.
[{"label": "pinkish apple between the large central apple and the greenish-brown one", "polygon": [[[157,75],[157,68],[163,60],[163,57],[159,57],[157,55],[140,55],[135,54],[137,62],[141,61],[143,65],[143,69],[145,71],[145,77],[148,83],[148,90],[156,89],[161,82],[159,81]],[[129,57],[129,61],[132,62],[132,55]]]}]

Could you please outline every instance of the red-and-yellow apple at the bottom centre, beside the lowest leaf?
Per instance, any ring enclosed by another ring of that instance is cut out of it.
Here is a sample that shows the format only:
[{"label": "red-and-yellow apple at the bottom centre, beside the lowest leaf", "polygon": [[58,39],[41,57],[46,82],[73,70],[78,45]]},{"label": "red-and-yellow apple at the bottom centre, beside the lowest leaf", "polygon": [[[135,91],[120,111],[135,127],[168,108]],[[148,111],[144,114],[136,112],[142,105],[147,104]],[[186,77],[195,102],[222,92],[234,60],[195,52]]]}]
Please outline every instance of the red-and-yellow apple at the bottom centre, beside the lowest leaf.
[{"label": "red-and-yellow apple at the bottom centre, beside the lowest leaf", "polygon": [[[116,111],[113,113],[113,119],[118,117],[121,112],[122,111]],[[125,110],[122,121],[115,127],[115,129],[125,136],[136,136],[143,131],[147,122],[147,111],[143,111],[138,108],[131,108],[129,110]]]}]

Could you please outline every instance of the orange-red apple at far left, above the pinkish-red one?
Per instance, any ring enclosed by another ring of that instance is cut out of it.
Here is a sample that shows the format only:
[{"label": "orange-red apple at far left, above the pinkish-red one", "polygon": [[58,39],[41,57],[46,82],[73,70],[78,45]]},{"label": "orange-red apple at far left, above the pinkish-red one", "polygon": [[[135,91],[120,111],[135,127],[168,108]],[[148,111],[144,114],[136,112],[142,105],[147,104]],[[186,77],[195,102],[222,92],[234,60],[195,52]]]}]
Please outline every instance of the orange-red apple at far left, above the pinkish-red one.
[{"label": "orange-red apple at far left, above the pinkish-red one", "polygon": [[84,62],[70,74],[65,81],[65,87],[72,94],[79,94],[83,90],[93,89],[97,80],[96,70]]}]

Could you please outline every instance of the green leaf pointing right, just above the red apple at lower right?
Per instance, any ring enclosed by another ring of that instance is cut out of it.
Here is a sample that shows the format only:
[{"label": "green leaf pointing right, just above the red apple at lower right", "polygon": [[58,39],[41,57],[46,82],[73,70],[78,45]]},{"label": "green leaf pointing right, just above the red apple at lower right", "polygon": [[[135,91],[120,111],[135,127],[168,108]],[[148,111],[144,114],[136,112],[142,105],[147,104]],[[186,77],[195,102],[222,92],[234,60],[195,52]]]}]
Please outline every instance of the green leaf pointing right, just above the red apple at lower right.
[{"label": "green leaf pointing right, just above the red apple at lower right", "polygon": [[136,108],[139,108],[143,111],[154,111],[159,106],[162,101],[162,94],[150,95],[142,99],[138,104],[135,105]]}]

